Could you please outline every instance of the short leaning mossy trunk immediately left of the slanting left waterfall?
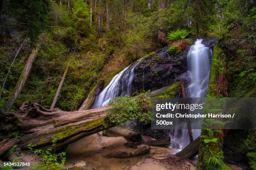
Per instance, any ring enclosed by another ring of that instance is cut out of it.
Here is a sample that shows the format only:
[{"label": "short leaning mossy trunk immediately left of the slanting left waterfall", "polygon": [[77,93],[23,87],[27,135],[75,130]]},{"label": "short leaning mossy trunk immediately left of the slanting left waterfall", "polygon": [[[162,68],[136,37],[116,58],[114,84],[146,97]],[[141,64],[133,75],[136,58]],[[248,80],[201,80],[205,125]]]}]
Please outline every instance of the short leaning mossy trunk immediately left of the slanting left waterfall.
[{"label": "short leaning mossy trunk immediately left of the slanting left waterfall", "polygon": [[100,93],[100,90],[102,89],[103,85],[104,85],[104,80],[100,80],[97,83],[97,85],[95,85],[95,87],[89,93],[89,95],[86,98],[86,100],[84,100],[83,104],[79,108],[79,111],[90,109],[90,107],[92,106],[92,104],[93,104],[93,102],[95,100],[95,97]]}]

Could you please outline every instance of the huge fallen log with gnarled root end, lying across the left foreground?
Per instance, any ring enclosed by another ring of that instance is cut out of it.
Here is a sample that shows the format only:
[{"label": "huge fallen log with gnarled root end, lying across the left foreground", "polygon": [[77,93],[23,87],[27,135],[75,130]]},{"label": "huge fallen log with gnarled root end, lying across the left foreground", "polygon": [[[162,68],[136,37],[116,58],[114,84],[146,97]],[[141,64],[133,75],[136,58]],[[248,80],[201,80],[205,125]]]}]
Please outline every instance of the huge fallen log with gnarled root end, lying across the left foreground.
[{"label": "huge fallen log with gnarled root end, lying across the left foreground", "polygon": [[[159,93],[160,91],[158,90]],[[58,150],[88,135],[106,130],[102,122],[110,108],[111,106],[104,106],[68,112],[59,108],[46,109],[34,102],[24,102],[20,112],[8,112],[5,115],[11,115],[13,126],[24,134],[17,143],[19,148],[26,149],[30,143],[38,148],[48,147],[54,138],[61,136],[62,140],[56,143]],[[114,126],[117,125],[108,123],[108,128]]]}]

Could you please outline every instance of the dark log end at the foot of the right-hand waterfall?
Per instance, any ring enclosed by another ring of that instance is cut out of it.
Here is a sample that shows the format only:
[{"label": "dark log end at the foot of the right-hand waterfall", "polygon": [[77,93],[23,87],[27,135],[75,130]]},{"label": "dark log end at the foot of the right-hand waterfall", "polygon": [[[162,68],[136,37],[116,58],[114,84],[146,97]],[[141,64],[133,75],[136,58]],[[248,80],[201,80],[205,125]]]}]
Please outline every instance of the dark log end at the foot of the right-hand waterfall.
[{"label": "dark log end at the foot of the right-hand waterfall", "polygon": [[190,159],[198,155],[200,137],[196,138],[192,143],[189,143],[182,151],[176,153],[176,156]]}]

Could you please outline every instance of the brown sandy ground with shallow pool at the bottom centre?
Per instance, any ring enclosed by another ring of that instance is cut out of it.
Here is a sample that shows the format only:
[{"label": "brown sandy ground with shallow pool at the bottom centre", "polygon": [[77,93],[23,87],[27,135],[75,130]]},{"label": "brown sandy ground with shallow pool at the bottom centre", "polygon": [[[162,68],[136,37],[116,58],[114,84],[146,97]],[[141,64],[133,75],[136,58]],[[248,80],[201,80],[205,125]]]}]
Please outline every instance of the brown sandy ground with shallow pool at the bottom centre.
[{"label": "brown sandy ground with shallow pool at the bottom centre", "polygon": [[[174,156],[179,150],[150,146],[150,151],[139,156],[109,158],[120,152],[132,153],[138,149],[126,148],[123,137],[106,137],[98,134],[87,136],[68,146],[67,165],[84,161],[96,170],[195,170],[189,160]],[[140,146],[138,146],[140,147]]]}]

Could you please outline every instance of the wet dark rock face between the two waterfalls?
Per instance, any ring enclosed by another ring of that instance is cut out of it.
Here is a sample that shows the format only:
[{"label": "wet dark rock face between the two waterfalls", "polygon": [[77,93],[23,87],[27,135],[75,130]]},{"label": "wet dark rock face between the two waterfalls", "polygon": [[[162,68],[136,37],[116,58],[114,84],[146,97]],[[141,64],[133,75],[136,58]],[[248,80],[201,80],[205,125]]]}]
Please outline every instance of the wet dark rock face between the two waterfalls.
[{"label": "wet dark rock face between the two waterfalls", "polygon": [[[203,38],[203,44],[212,48],[216,38]],[[174,82],[188,79],[187,54],[189,47],[179,54],[170,55],[166,46],[156,55],[145,57],[134,69],[132,92],[157,90]]]}]

